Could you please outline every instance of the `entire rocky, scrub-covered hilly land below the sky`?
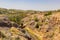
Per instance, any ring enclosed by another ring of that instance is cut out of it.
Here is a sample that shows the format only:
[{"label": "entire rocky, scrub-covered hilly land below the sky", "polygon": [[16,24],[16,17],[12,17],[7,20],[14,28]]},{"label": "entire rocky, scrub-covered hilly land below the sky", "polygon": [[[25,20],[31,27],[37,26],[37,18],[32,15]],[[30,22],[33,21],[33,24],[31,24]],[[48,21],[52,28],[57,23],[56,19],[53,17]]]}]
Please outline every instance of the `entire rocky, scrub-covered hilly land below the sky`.
[{"label": "entire rocky, scrub-covered hilly land below the sky", "polygon": [[0,40],[60,40],[60,10],[0,8]]}]

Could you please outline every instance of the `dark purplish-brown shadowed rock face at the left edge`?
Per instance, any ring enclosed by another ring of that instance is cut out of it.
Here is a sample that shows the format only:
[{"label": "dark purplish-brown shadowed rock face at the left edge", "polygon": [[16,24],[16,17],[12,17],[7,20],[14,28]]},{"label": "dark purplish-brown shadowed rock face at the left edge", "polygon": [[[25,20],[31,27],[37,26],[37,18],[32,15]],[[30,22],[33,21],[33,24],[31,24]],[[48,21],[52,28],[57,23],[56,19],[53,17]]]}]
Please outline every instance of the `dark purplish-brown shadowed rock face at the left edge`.
[{"label": "dark purplish-brown shadowed rock face at the left edge", "polygon": [[8,27],[8,28],[10,28],[10,27],[19,27],[19,25],[17,24],[17,23],[14,23],[14,22],[11,22],[10,20],[8,20],[8,19],[2,19],[1,21],[0,21],[0,27]]}]

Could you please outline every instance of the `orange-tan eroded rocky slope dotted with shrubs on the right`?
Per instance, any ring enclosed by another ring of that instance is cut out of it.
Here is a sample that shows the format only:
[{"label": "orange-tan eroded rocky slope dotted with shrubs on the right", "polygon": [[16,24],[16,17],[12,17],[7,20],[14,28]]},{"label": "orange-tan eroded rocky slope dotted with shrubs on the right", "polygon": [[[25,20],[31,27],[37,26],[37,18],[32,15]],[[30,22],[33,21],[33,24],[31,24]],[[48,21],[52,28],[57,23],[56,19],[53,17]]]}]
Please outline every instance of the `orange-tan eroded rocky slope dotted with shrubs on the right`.
[{"label": "orange-tan eroded rocky slope dotted with shrubs on the right", "polygon": [[[36,15],[37,18],[38,16]],[[34,21],[34,17],[31,16],[31,18],[28,17],[28,19],[30,20],[26,20],[26,21],[23,20],[24,21],[23,24],[26,24],[26,27],[30,27],[33,30],[36,29],[37,31],[42,32],[43,34],[42,40],[60,40],[59,38],[60,37],[60,30],[59,30],[60,29],[60,13],[59,12],[47,17],[46,16],[39,17],[38,22]],[[39,28],[35,28],[37,23],[40,23]]]}]

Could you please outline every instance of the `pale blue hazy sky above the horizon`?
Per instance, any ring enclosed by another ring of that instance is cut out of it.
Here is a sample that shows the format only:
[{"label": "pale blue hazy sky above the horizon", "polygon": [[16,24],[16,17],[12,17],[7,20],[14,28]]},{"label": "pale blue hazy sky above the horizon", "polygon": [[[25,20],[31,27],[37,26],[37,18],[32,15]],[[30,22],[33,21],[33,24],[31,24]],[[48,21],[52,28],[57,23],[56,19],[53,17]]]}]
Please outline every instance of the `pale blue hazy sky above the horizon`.
[{"label": "pale blue hazy sky above the horizon", "polygon": [[54,10],[60,9],[60,0],[0,0],[0,8]]}]

